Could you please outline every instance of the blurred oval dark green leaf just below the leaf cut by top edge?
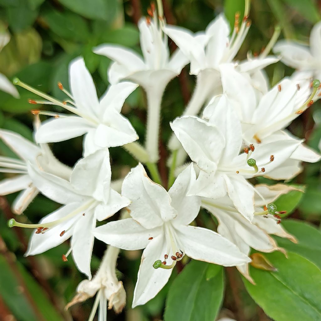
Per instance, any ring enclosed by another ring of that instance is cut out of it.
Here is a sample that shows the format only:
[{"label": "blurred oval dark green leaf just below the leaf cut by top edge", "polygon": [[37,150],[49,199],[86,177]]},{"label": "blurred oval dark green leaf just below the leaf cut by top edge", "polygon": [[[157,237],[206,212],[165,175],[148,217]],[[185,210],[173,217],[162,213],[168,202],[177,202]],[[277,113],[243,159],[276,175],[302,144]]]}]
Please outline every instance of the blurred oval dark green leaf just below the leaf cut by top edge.
[{"label": "blurred oval dark green leaf just below the leaf cut by top edge", "polygon": [[70,11],[57,11],[49,7],[40,16],[40,22],[59,37],[85,42],[90,33],[87,22],[78,14]]}]

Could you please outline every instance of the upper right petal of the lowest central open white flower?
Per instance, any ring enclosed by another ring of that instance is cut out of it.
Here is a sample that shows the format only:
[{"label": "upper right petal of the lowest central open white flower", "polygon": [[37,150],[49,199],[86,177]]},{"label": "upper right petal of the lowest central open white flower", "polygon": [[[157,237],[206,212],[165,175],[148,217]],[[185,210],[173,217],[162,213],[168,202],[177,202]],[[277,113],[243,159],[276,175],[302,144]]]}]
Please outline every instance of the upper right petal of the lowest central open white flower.
[{"label": "upper right petal of the lowest central open white flower", "polygon": [[190,164],[178,175],[173,186],[169,189],[170,204],[178,213],[173,220],[173,224],[187,225],[194,221],[197,216],[201,206],[201,198],[199,196],[186,196],[195,181],[195,170],[193,164]]}]

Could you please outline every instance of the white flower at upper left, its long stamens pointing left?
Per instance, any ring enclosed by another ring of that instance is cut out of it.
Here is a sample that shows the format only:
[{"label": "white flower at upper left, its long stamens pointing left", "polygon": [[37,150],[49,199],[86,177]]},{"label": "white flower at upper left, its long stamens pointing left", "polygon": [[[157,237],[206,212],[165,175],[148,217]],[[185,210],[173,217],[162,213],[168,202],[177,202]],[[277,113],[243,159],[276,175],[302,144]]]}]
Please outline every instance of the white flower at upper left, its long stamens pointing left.
[{"label": "white flower at upper left, its long stamens pointing left", "polygon": [[74,103],[71,101],[62,103],[34,90],[18,79],[14,82],[50,101],[36,102],[31,100],[31,103],[58,105],[77,115],[34,111],[37,114],[55,116],[41,124],[35,136],[37,143],[61,142],[85,134],[83,154],[87,156],[99,149],[122,146],[138,139],[128,119],[120,114],[125,99],[137,88],[137,85],[131,82],[112,85],[98,100],[95,84],[82,58],[73,60],[69,65],[72,95],[59,84],[60,88],[74,100]]}]

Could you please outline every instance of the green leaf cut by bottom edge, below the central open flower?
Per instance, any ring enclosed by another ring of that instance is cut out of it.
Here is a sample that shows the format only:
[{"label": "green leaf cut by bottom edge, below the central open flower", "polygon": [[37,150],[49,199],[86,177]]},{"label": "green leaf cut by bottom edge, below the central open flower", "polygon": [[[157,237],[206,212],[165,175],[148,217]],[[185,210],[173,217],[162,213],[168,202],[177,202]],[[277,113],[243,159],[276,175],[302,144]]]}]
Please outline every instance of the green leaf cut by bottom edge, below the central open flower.
[{"label": "green leaf cut by bottom edge, below the central open flower", "polygon": [[172,283],[166,300],[165,321],[213,321],[223,298],[220,265],[192,261]]}]

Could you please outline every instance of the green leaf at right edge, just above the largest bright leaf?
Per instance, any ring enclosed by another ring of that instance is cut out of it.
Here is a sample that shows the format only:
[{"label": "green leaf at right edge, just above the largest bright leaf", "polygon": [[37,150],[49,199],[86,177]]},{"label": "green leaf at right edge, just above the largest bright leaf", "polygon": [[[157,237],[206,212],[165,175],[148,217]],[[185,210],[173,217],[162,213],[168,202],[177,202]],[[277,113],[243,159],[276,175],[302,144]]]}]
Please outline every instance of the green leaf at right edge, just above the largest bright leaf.
[{"label": "green leaf at right edge, just above the largest bright leaf", "polygon": [[278,245],[305,257],[321,269],[321,232],[304,221],[284,220],[282,225],[299,243],[276,236]]}]

